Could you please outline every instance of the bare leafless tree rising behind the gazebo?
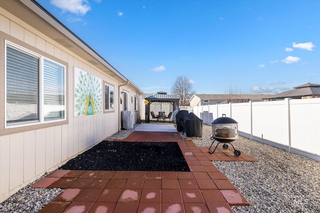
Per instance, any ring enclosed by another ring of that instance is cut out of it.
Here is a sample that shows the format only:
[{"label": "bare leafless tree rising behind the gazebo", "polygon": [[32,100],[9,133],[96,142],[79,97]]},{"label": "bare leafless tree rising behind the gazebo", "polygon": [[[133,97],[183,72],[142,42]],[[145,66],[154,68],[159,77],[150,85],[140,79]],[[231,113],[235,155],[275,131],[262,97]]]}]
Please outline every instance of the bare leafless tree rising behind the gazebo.
[{"label": "bare leafless tree rising behind the gazebo", "polygon": [[194,93],[191,83],[185,76],[178,76],[171,87],[171,94],[180,98],[180,106],[185,106]]}]

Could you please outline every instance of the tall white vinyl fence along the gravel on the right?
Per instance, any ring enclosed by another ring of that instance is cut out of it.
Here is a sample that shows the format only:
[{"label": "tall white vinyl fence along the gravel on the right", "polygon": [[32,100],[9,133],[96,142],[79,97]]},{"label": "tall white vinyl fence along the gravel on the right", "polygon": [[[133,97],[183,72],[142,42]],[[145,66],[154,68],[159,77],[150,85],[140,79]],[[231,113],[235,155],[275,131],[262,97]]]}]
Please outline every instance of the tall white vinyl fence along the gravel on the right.
[{"label": "tall white vinyl fence along the gravel on the right", "polygon": [[193,113],[208,125],[225,114],[243,137],[320,161],[320,98],[194,106]]}]

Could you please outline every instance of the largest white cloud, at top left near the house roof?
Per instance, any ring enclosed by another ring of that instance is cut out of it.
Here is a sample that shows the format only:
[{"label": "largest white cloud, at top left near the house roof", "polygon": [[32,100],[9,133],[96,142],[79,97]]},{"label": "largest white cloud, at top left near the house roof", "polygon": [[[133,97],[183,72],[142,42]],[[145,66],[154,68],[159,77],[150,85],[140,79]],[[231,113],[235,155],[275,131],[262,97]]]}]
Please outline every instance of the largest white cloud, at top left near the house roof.
[{"label": "largest white cloud, at top left near the house roof", "polygon": [[85,15],[91,10],[87,0],[50,0],[50,3],[62,9],[62,12],[67,11],[77,15]]}]

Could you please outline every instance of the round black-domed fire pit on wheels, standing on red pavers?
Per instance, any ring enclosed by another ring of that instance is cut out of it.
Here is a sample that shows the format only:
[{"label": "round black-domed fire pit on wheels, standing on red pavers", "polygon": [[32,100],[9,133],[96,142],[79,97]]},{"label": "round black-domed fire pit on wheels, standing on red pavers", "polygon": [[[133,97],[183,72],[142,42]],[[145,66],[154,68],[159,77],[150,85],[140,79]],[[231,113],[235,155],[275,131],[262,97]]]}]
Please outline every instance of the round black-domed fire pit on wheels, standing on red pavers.
[{"label": "round black-domed fire pit on wheels, standing on red pavers", "polygon": [[[234,149],[233,145],[231,144],[231,142],[238,138],[238,123],[232,118],[225,117],[225,114],[222,114],[222,117],[215,119],[211,124],[212,137],[210,140],[212,140],[212,144],[209,147],[209,153],[213,154],[217,146],[221,143],[223,143],[222,148],[226,150],[228,148],[227,143],[229,143],[234,150],[234,155],[237,157],[240,156],[241,152]],[[212,152],[210,149],[215,141],[218,143]]]}]

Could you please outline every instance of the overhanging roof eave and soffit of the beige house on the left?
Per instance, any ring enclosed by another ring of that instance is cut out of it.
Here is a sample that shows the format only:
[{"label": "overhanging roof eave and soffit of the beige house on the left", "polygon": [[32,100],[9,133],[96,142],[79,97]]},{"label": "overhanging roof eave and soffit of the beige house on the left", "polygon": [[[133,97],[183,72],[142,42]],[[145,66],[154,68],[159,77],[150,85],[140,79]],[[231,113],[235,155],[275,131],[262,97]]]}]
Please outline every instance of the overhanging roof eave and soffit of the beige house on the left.
[{"label": "overhanging roof eave and soffit of the beige house on the left", "polygon": [[66,47],[69,51],[75,52],[91,65],[101,69],[104,73],[119,81],[121,85],[127,85],[143,95],[143,92],[135,84],[125,78],[36,0],[16,0],[10,1],[10,3],[6,3],[6,1],[3,0],[0,1],[0,5],[28,25],[39,30],[63,47]]}]

